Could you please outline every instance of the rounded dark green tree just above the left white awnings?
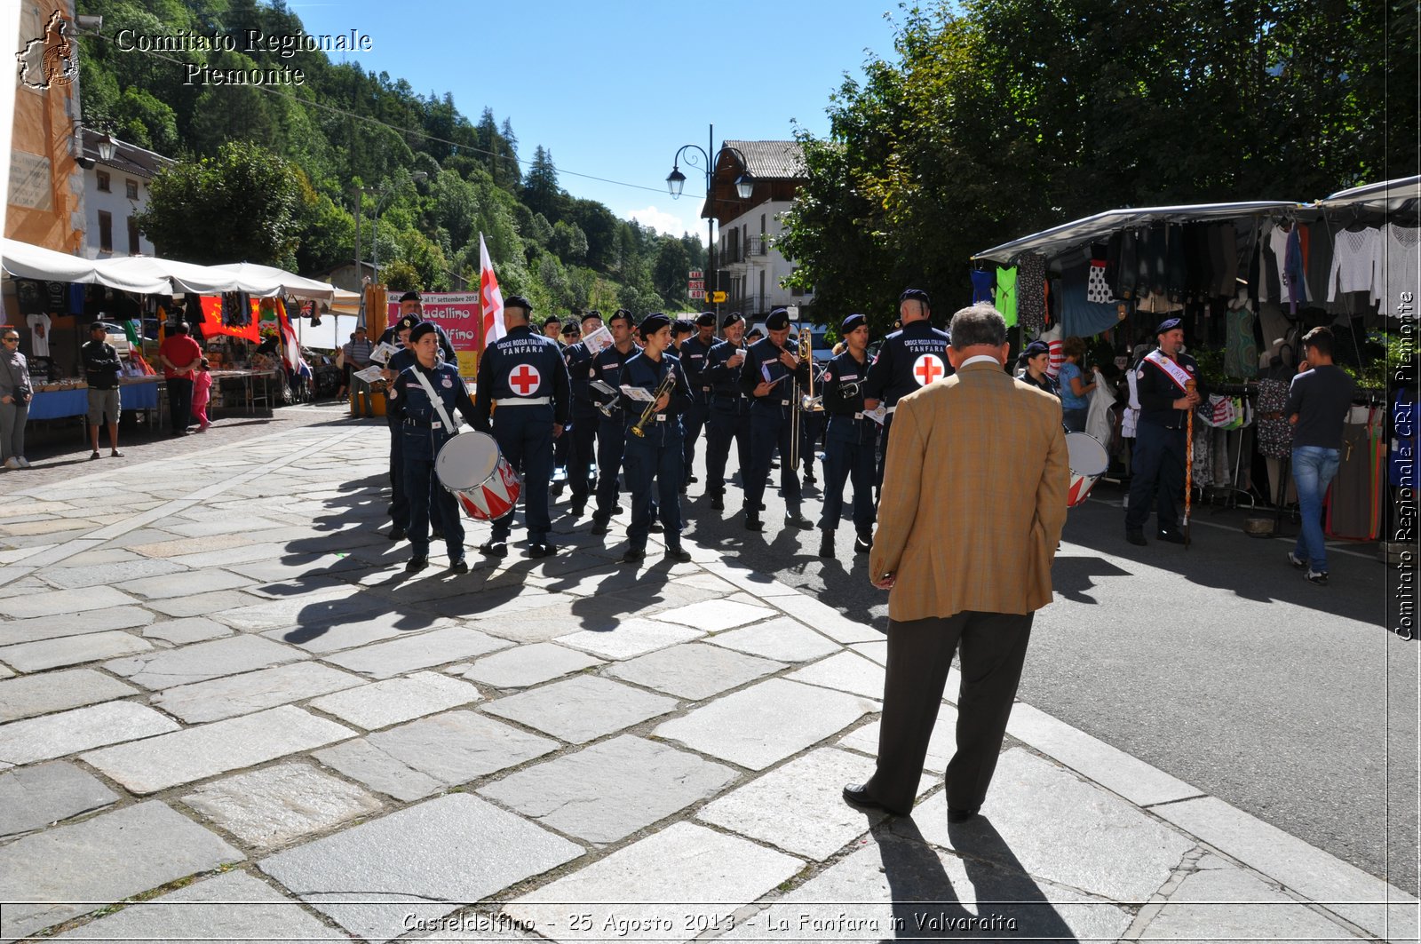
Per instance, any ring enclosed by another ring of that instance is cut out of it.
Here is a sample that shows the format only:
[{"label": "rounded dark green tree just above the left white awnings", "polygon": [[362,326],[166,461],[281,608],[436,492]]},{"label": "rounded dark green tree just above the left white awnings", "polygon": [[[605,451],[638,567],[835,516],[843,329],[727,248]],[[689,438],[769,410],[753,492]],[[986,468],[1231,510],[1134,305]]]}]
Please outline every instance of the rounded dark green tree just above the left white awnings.
[{"label": "rounded dark green tree just above the left white awnings", "polygon": [[159,256],[297,267],[301,178],[270,151],[230,141],[213,158],[159,171],[149,188],[135,222]]}]

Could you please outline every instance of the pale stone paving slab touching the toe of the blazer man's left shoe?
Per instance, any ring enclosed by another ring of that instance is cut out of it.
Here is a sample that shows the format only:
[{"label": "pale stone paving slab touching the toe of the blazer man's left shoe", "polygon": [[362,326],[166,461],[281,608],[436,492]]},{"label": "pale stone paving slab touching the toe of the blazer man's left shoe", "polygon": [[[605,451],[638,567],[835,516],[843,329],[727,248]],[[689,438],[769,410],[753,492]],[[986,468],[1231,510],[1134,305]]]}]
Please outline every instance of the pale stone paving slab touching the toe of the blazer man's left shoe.
[{"label": "pale stone paving slab touching the toe of the blazer man's left shoe", "polygon": [[[706,803],[696,819],[823,862],[887,817],[854,809],[840,796],[845,783],[863,783],[872,773],[868,758],[820,748]],[[932,783],[924,778],[918,792]]]}]

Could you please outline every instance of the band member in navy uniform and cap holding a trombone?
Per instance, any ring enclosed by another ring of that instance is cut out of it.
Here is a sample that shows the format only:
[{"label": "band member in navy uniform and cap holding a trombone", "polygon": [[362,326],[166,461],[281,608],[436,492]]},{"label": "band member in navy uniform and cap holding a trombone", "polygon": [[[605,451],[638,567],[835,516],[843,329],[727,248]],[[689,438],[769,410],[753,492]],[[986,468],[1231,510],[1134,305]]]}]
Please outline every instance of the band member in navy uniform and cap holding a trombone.
[{"label": "band member in navy uniform and cap holding a trombone", "polygon": [[763,530],[760,502],[770,475],[770,459],[776,445],[780,449],[780,492],[784,495],[784,523],[793,527],[810,529],[814,525],[800,513],[799,475],[790,462],[791,411],[799,391],[794,384],[809,384],[809,363],[801,363],[791,350],[784,347],[790,336],[790,316],[784,309],[774,309],[764,318],[769,334],[753,344],[740,368],[740,390],[750,401],[750,471],[742,472],[745,481],[745,526],[749,530]]}]

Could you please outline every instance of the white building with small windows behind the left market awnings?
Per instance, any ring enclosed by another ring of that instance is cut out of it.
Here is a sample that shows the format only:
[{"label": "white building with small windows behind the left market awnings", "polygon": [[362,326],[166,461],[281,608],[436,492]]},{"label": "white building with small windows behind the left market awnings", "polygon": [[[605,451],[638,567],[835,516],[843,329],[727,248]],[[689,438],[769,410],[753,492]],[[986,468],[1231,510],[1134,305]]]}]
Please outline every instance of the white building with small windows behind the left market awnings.
[{"label": "white building with small windows behind the left market awnings", "polygon": [[[105,158],[108,142],[112,155]],[[152,256],[153,245],[138,232],[134,216],[148,206],[148,182],[172,158],[84,128],[84,256]]]}]

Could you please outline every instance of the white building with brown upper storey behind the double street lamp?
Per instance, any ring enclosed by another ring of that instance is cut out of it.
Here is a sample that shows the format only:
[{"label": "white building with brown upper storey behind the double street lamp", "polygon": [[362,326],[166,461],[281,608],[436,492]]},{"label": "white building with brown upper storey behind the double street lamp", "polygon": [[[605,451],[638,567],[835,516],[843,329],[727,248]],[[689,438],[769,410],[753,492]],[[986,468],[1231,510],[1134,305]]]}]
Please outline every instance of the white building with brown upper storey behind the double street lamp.
[{"label": "white building with brown upper storey behind the double street lamp", "polygon": [[[742,166],[736,155],[745,156]],[[715,219],[720,233],[715,266],[726,300],[720,311],[739,311],[746,321],[763,320],[770,309],[799,306],[800,317],[814,303],[813,290],[784,289],[780,281],[794,264],[776,249],[784,229],[782,216],[804,181],[804,161],[796,141],[726,141],[719,151],[710,193],[702,219]],[[735,182],[742,173],[755,179],[749,199],[740,199]]]}]

